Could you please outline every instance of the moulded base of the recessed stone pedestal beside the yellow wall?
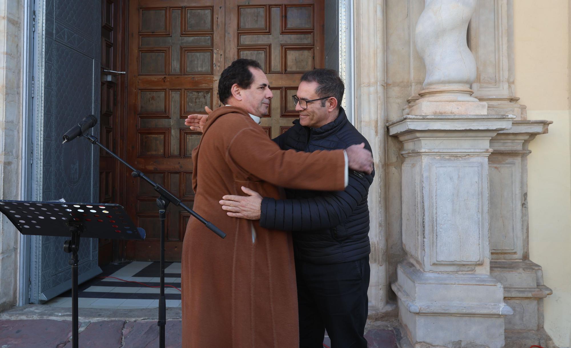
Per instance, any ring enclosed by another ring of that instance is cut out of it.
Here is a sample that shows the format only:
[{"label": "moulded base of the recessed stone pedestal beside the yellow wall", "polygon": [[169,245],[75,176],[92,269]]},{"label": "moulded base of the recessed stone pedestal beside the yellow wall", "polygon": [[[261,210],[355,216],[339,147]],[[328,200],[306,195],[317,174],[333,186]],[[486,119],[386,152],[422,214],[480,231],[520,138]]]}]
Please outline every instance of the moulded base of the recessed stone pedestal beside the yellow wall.
[{"label": "moulded base of the recessed stone pedestal beside the yellow wall", "polygon": [[543,326],[542,299],[552,294],[543,284],[541,266],[530,260],[490,262],[490,274],[504,286],[505,303],[514,314],[505,318],[506,330],[539,330]]}]

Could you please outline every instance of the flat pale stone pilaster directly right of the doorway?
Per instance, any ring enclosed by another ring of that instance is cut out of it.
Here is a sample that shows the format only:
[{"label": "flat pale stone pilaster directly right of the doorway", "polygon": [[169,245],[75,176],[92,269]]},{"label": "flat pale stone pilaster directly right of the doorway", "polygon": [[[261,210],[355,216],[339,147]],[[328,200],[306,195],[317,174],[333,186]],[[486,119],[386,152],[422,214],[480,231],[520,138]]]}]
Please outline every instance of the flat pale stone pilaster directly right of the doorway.
[{"label": "flat pale stone pilaster directly right of the doorway", "polygon": [[384,0],[356,0],[353,4],[355,37],[355,126],[371,144],[375,159],[375,180],[369,188],[371,211],[371,281],[369,282],[369,319],[396,314],[387,304],[389,292],[387,261],[387,200],[385,148],[387,122],[385,103]]}]

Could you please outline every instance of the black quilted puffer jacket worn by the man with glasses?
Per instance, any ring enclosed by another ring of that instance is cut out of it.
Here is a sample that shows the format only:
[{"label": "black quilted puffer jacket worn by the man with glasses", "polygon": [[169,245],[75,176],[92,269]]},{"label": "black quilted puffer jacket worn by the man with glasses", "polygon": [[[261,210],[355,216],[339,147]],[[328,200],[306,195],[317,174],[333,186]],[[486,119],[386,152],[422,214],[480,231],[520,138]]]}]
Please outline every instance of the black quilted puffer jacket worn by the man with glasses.
[{"label": "black quilted puffer jacket worn by the man with glasses", "polygon": [[[343,108],[331,123],[320,128],[294,126],[274,141],[282,149],[312,152],[345,149],[367,139],[347,120]],[[303,175],[303,174],[302,174]],[[260,225],[293,231],[293,248],[299,260],[315,264],[355,261],[371,252],[367,194],[373,176],[349,169],[345,191],[286,190],[287,199],[264,197]]]}]

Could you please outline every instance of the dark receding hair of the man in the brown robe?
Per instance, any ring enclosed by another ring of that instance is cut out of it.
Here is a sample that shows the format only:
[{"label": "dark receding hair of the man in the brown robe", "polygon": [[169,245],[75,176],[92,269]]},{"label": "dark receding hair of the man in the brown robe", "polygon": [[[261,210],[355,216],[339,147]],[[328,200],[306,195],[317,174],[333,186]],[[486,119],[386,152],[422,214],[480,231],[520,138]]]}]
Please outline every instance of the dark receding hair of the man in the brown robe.
[{"label": "dark receding hair of the man in the brown robe", "polygon": [[252,59],[236,59],[228,66],[218,80],[218,99],[222,104],[226,104],[228,98],[232,95],[232,86],[238,83],[238,86],[250,88],[254,82],[254,75],[250,71],[250,67],[262,70],[260,63]]}]

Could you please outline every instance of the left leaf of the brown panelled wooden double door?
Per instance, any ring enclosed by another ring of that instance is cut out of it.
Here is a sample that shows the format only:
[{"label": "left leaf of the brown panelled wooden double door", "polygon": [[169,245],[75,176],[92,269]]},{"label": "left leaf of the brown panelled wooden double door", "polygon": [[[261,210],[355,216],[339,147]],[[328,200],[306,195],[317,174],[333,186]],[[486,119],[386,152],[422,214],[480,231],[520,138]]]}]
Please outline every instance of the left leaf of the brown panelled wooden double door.
[{"label": "left leaf of the brown panelled wooden double door", "polygon": [[[192,207],[191,152],[200,134],[184,126],[184,119],[204,113],[204,106],[212,108],[218,98],[214,86],[223,68],[224,27],[216,19],[224,12],[223,0],[185,5],[180,0],[130,3],[127,157]],[[147,231],[146,241],[128,243],[127,257],[158,260],[156,192],[139,180],[130,180],[127,190],[127,208]],[[167,260],[180,260],[187,215],[177,207],[167,209]]]}]

